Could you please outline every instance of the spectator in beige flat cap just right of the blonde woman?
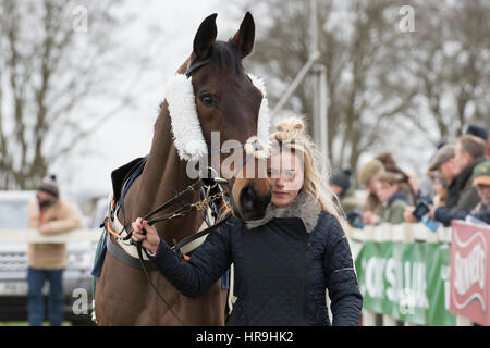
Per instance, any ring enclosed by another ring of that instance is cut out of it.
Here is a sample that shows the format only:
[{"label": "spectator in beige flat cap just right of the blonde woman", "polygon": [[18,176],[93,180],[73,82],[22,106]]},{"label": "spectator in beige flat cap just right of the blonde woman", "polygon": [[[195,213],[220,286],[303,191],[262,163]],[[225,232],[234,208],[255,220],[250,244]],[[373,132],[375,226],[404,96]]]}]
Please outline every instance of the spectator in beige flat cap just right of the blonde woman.
[{"label": "spectator in beige flat cap just right of the blonde woman", "polygon": [[378,175],[384,171],[383,164],[379,160],[366,163],[357,174],[357,181],[368,190],[368,196],[363,208],[362,220],[365,224],[370,224],[372,219],[377,219],[381,202],[375,192],[375,182]]}]

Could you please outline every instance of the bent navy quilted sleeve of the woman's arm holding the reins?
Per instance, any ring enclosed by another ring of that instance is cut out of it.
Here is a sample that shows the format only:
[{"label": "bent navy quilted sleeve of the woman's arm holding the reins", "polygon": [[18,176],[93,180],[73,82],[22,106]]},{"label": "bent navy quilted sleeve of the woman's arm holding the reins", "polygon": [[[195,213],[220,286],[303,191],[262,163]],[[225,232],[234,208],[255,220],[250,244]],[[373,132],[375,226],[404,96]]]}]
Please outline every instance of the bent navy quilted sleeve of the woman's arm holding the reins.
[{"label": "bent navy quilted sleeve of the woman's arm holding the reins", "polygon": [[[231,265],[230,244],[225,225],[208,235],[205,243],[185,261],[163,239],[149,259],[159,272],[184,296],[196,297],[217,282]],[[224,235],[224,236],[223,236]]]}]

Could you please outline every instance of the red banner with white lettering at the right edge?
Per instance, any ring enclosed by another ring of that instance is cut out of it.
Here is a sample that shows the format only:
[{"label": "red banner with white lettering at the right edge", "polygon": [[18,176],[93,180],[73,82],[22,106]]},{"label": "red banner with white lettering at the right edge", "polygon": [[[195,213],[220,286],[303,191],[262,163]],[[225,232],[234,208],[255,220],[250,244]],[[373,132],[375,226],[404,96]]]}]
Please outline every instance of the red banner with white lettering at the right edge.
[{"label": "red banner with white lettering at the right edge", "polygon": [[451,223],[450,311],[490,326],[490,227]]}]

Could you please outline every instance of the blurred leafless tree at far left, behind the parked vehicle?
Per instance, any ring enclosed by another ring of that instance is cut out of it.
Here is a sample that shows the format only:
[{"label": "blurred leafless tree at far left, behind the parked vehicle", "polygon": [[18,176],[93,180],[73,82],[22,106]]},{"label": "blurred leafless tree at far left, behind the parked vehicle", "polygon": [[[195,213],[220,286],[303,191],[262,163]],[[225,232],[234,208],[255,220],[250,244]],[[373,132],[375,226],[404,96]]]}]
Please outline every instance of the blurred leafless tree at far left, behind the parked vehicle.
[{"label": "blurred leafless tree at far left, behind the parked vehicle", "polygon": [[[0,2],[0,188],[37,185],[103,119],[81,110],[112,96],[120,1]],[[103,67],[103,69],[102,69]]]}]

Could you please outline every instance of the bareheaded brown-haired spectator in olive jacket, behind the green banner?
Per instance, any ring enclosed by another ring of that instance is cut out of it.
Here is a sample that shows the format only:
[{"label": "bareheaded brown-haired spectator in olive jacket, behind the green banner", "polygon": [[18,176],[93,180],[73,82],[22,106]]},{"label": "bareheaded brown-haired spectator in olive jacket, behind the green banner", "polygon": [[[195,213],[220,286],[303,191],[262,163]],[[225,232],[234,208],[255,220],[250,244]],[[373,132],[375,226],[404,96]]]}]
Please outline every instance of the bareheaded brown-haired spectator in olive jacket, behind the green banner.
[{"label": "bareheaded brown-haired spectator in olive jacket, behind the green banner", "polygon": [[376,179],[376,195],[381,201],[379,219],[371,224],[401,224],[405,221],[403,213],[408,204],[408,195],[400,189],[403,176],[399,173],[384,172]]}]

